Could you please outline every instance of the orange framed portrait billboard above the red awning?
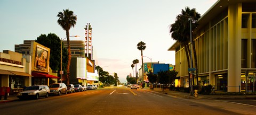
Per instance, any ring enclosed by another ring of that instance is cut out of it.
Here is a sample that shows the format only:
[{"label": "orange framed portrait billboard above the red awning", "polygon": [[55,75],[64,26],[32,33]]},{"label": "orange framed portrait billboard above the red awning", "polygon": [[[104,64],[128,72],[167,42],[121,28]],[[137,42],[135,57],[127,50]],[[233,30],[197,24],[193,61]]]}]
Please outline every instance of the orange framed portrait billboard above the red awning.
[{"label": "orange framed portrait billboard above the red awning", "polygon": [[49,73],[50,48],[37,42],[31,43],[32,71]]}]

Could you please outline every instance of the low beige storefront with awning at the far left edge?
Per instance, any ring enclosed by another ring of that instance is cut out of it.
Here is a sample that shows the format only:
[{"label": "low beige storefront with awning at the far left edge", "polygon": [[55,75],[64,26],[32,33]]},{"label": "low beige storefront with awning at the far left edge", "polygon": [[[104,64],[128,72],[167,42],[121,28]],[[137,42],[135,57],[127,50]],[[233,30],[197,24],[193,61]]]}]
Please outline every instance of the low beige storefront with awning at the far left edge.
[{"label": "low beige storefront with awning at the far left edge", "polygon": [[0,52],[0,87],[10,87],[11,93],[31,86],[31,56],[3,50]]}]

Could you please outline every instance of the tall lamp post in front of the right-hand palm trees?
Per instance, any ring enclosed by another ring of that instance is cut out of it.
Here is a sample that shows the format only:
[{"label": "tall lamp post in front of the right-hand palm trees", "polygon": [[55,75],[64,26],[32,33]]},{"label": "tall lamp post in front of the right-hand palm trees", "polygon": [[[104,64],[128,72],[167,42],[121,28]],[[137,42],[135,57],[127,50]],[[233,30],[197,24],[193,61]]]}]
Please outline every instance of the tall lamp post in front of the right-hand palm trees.
[{"label": "tall lamp post in front of the right-hand palm trees", "polygon": [[[188,18],[188,21],[190,22],[190,65],[191,65],[191,68],[193,68],[193,63],[192,63],[192,30],[191,30],[191,21],[193,20],[192,17],[189,17]],[[193,77],[191,77],[193,75],[193,70],[190,71],[190,96],[193,96],[193,85],[192,85],[192,81],[193,81]]]}]

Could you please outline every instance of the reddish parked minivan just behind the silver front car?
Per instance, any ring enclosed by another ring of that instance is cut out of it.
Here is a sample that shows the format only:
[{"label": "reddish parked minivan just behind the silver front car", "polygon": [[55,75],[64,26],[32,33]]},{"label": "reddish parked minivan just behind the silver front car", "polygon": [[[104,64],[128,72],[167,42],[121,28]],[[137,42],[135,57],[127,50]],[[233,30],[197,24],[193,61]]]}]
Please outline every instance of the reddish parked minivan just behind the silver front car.
[{"label": "reddish parked minivan just behind the silver front car", "polygon": [[57,94],[57,95],[61,95],[63,94],[67,94],[67,86],[65,83],[53,83],[51,85],[49,85],[50,88],[50,94]]}]

